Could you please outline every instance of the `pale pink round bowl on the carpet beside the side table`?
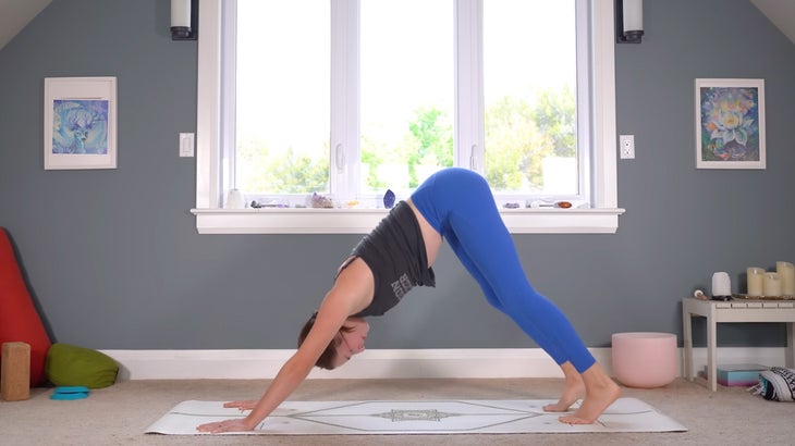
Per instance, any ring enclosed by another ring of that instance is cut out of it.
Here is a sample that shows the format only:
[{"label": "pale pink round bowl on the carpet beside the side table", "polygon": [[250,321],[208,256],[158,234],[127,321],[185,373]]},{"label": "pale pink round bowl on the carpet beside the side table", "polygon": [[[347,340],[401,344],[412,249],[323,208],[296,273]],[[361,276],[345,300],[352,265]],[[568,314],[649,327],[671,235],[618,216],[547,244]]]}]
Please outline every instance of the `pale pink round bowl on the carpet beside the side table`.
[{"label": "pale pink round bowl on the carpet beside the side table", "polygon": [[653,388],[678,374],[676,335],[629,332],[612,336],[613,374],[628,387]]}]

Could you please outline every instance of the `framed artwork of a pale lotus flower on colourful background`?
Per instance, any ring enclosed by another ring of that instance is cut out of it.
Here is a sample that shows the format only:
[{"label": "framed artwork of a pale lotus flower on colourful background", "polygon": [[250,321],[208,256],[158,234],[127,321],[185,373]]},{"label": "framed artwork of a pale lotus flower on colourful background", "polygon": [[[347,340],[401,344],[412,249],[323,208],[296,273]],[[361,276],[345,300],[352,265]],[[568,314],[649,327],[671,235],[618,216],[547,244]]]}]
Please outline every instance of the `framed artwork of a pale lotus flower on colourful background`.
[{"label": "framed artwork of a pale lotus flower on colourful background", "polygon": [[765,169],[765,79],[696,79],[696,169]]}]

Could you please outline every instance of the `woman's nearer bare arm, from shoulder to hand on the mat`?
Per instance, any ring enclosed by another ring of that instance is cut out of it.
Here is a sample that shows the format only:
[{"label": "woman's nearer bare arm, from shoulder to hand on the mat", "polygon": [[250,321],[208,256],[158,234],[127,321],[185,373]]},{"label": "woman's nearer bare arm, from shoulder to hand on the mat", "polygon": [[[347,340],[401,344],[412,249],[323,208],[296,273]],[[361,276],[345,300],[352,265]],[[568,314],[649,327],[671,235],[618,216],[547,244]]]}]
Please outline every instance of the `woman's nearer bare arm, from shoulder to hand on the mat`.
[{"label": "woman's nearer bare arm, from shoulder to hand on the mat", "polygon": [[304,344],[282,366],[252,412],[243,419],[201,424],[197,430],[221,433],[250,431],[256,428],[304,382],[345,320],[366,308],[371,299],[372,274],[364,261],[356,259],[337,278],[334,286],[323,298],[315,326]]}]

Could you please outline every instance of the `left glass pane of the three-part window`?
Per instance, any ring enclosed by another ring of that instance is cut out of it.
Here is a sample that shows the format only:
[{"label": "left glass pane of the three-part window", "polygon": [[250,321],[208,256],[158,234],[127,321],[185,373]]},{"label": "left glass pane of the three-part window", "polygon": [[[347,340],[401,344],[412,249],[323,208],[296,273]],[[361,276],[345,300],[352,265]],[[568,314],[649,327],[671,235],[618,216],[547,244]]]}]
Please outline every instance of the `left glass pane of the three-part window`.
[{"label": "left glass pane of the three-part window", "polygon": [[329,0],[237,1],[236,187],[329,190]]}]

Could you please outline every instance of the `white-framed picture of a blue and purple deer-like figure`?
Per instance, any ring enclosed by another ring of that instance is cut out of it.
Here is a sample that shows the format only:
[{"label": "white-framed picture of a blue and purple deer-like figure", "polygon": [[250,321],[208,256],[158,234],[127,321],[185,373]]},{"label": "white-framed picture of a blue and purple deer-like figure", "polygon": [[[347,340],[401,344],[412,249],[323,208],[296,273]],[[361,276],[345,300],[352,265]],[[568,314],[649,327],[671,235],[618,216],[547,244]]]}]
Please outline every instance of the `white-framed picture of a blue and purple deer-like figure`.
[{"label": "white-framed picture of a blue and purple deer-like figure", "polygon": [[117,169],[117,78],[46,77],[45,170]]}]

